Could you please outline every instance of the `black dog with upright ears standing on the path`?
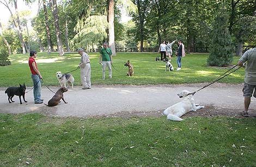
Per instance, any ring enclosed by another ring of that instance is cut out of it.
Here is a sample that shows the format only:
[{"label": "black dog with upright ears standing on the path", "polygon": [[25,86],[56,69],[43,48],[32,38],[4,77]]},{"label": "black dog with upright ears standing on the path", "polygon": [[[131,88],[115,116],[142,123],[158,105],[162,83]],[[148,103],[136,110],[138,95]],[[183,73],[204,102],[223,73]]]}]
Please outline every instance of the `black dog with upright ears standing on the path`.
[{"label": "black dog with upright ears standing on the path", "polygon": [[[10,88],[7,88],[7,90],[5,90],[5,94],[8,95],[9,103],[14,102],[13,101],[13,97],[14,97],[14,95],[17,95],[17,96],[20,97],[20,104],[22,104],[21,96],[23,97],[23,100],[25,102],[27,102],[25,100],[25,91],[26,91],[26,86],[25,86],[25,83],[24,83],[23,85],[20,84],[20,87],[10,87]],[[11,100],[11,102],[10,102],[10,100]]]}]

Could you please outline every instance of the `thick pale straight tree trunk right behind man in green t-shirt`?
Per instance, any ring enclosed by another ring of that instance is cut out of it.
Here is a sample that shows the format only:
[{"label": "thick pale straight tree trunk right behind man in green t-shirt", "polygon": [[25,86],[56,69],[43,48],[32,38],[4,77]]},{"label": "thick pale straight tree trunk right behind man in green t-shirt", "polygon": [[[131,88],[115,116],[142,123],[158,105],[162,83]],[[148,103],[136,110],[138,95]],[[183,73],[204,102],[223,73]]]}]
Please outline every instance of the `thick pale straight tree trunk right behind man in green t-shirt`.
[{"label": "thick pale straight tree trunk right behind man in green t-shirt", "polygon": [[114,0],[108,0],[108,35],[109,35],[109,48],[111,48],[112,55],[115,55],[115,33],[114,33]]}]

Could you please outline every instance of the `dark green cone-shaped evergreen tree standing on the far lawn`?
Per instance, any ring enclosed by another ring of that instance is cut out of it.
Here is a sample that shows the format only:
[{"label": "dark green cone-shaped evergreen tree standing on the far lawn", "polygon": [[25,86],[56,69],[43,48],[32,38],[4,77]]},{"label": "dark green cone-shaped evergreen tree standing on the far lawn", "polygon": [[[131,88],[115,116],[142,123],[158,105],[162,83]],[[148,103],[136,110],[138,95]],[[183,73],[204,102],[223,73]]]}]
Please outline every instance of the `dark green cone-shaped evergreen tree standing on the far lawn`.
[{"label": "dark green cone-shaped evergreen tree standing on the far lawn", "polygon": [[228,32],[228,15],[225,10],[225,1],[223,1],[211,33],[210,54],[207,61],[210,66],[227,66],[232,60],[233,47]]}]

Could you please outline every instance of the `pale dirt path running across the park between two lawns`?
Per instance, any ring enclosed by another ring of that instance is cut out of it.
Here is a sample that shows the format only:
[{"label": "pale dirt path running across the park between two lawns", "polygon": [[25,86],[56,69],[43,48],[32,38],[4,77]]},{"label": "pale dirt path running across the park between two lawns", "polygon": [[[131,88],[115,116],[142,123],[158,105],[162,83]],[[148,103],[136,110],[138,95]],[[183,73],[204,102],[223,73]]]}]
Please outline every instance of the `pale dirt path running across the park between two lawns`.
[{"label": "pale dirt path running across the park between two lawns", "polygon": [[[7,88],[0,88],[0,113],[43,113],[52,116],[160,116],[162,111],[180,101],[177,94],[181,90],[191,92],[205,84],[180,85],[93,85],[92,89],[82,90],[80,86],[70,88],[64,93],[63,101],[56,107],[33,103],[33,91],[26,94],[27,103],[20,104],[15,96],[15,103],[8,102],[4,93]],[[30,90],[31,87],[27,88]],[[57,91],[58,87],[50,87]],[[215,83],[194,95],[196,103],[206,106],[187,116],[239,116],[243,109],[242,84]],[[43,86],[42,98],[45,103],[53,93]],[[256,115],[256,99],[252,98],[251,116]]]}]

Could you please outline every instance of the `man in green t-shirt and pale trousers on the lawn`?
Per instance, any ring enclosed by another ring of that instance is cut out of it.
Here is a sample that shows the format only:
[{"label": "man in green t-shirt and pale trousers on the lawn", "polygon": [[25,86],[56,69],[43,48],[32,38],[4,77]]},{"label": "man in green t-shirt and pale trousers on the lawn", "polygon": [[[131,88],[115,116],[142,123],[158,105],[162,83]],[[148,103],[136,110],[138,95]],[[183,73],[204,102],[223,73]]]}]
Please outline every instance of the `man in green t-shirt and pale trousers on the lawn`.
[{"label": "man in green t-shirt and pale trousers on the lawn", "polygon": [[100,61],[99,63],[102,65],[102,79],[105,79],[105,70],[106,66],[108,67],[109,78],[112,79],[112,51],[108,48],[108,43],[103,43],[103,48],[100,50]]}]

